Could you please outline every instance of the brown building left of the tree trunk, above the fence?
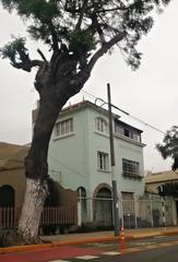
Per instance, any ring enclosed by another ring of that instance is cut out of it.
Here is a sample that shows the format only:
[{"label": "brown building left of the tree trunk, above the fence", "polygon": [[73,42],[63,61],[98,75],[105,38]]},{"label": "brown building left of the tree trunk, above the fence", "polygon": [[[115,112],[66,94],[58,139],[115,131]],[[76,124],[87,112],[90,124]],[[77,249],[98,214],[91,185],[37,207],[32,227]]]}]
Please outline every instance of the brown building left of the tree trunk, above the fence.
[{"label": "brown building left of the tree trunk, above the fence", "polygon": [[0,142],[0,207],[21,207],[25,192],[24,157],[28,146]]}]

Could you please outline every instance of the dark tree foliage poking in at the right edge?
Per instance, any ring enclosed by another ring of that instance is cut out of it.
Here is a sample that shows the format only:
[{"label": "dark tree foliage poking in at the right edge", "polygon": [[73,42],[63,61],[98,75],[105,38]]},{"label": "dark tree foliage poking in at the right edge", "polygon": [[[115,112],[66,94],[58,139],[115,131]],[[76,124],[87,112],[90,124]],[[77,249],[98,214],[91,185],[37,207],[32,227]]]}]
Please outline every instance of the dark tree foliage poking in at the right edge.
[{"label": "dark tree foliage poking in at the right edge", "polygon": [[171,157],[174,163],[171,169],[178,169],[178,127],[174,126],[163,139],[163,144],[156,144],[157,151],[164,159]]}]

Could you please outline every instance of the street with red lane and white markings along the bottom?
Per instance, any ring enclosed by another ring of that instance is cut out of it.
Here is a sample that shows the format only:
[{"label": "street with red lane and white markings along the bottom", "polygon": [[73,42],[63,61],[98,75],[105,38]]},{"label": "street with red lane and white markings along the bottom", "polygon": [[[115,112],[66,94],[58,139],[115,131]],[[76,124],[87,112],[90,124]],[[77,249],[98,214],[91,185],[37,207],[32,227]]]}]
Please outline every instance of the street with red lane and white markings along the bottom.
[{"label": "street with red lane and white markings along the bottom", "polygon": [[0,254],[0,262],[177,262],[178,237],[162,236],[120,242],[61,246],[43,250]]}]

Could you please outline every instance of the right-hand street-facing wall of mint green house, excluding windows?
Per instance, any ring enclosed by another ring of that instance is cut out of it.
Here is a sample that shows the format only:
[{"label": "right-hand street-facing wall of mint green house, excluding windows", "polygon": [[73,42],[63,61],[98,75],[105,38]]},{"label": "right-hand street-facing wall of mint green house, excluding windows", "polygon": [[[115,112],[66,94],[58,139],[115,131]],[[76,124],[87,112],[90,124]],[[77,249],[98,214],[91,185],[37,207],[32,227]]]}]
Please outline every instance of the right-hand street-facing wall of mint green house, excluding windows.
[{"label": "right-hand street-facing wall of mint green house, excluding windows", "polygon": [[[102,116],[108,121],[107,115],[91,109],[90,110],[90,186],[91,191],[94,191],[97,184],[111,184],[111,172],[104,172],[97,170],[97,151],[109,154],[109,135],[104,135],[95,130],[95,118]],[[122,138],[122,139],[121,139]],[[109,154],[110,156],[110,154]],[[116,158],[116,179],[118,191],[129,191],[137,194],[143,194],[144,181],[143,179],[130,179],[122,177],[122,158],[140,163],[141,175],[144,174],[143,168],[143,144],[134,142],[129,138],[122,135],[115,136],[115,158]],[[109,159],[110,166],[110,159]]]}]

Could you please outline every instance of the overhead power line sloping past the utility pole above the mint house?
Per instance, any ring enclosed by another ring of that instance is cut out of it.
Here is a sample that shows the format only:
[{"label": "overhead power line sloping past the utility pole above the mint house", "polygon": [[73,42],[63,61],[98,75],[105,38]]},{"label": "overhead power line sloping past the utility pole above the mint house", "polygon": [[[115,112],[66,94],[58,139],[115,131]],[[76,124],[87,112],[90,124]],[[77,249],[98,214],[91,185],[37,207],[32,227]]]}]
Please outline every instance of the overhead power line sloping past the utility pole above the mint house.
[{"label": "overhead power line sloping past the utility pole above the mint house", "polygon": [[[99,98],[99,97],[97,97],[97,96],[95,96],[95,95],[93,95],[93,94],[91,94],[91,93],[88,93],[88,92],[86,92],[86,91],[82,91],[82,93],[84,93],[84,94],[86,94],[86,95],[88,95],[88,96],[95,98],[95,104],[96,104],[97,100],[100,100],[100,102],[103,103],[103,104],[100,105],[100,107],[103,107],[104,105],[107,105],[107,102],[105,102],[103,98]],[[161,130],[161,129],[154,127],[153,124],[150,124],[150,123],[147,123],[147,122],[141,120],[141,119],[138,118],[138,117],[134,117],[134,116],[131,115],[130,112],[127,112],[126,110],[123,110],[123,109],[121,109],[121,108],[115,106],[114,104],[111,104],[111,107],[114,107],[115,109],[121,111],[122,114],[127,115],[128,117],[130,117],[130,118],[132,118],[132,119],[134,119],[134,120],[141,122],[142,124],[144,124],[144,126],[146,126],[146,127],[149,127],[149,128],[151,128],[151,129],[154,129],[154,130],[156,130],[156,131],[159,132],[159,133],[166,134],[166,132],[164,132],[163,130]]]}]

